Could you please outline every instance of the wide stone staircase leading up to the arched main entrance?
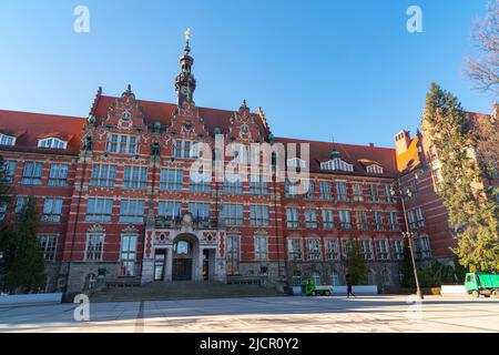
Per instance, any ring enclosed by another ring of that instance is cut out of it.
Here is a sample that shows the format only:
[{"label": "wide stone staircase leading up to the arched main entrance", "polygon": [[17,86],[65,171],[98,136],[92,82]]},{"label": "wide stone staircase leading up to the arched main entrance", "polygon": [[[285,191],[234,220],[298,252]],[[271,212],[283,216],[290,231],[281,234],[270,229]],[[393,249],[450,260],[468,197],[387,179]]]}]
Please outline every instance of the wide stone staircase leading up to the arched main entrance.
[{"label": "wide stone staircase leading up to the arched main entrance", "polygon": [[90,296],[91,302],[141,302],[195,298],[283,296],[275,287],[221,282],[151,283],[140,287],[105,287]]}]

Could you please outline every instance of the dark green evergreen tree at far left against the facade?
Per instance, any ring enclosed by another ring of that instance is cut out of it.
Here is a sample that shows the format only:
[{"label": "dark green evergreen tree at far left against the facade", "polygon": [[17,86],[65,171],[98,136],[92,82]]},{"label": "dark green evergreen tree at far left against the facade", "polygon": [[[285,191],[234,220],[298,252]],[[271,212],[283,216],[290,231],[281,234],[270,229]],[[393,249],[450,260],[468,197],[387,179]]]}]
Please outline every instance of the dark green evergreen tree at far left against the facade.
[{"label": "dark green evergreen tree at far left against the facade", "polygon": [[44,288],[44,261],[38,242],[39,214],[33,197],[29,197],[2,240],[6,258],[6,290],[31,293]]}]

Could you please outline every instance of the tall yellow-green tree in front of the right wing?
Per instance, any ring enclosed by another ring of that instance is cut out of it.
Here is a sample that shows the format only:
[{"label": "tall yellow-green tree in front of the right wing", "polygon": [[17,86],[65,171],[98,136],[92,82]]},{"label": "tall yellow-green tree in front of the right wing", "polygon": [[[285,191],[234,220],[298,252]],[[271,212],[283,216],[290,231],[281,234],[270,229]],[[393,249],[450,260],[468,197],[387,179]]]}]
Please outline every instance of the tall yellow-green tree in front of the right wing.
[{"label": "tall yellow-green tree in front of the right wing", "polygon": [[485,173],[473,158],[473,122],[458,99],[432,83],[426,98],[424,129],[441,163],[438,194],[455,226],[461,265],[499,270],[498,203],[487,193]]}]

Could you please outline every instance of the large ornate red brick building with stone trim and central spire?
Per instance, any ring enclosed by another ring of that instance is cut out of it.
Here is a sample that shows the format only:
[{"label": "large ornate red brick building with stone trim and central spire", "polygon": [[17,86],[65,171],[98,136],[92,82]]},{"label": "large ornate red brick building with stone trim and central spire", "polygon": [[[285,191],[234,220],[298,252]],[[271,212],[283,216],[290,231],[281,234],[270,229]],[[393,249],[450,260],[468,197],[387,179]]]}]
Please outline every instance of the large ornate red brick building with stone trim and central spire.
[{"label": "large ornate red brick building with stone trim and central spire", "polygon": [[[88,119],[0,111],[0,154],[17,195],[0,217],[35,197],[48,291],[262,275],[276,284],[342,284],[352,239],[368,261],[369,283],[396,285],[404,216],[394,186],[399,178],[413,186],[416,175],[417,197],[407,205],[417,253],[449,256],[445,211],[417,139],[403,132],[394,150],[274,138],[263,111],[246,102],[235,111],[196,106],[193,61],[187,42],[175,104],[138,100],[129,87],[121,97],[99,89]],[[213,166],[233,160],[230,143],[284,146],[273,163],[309,171],[309,189],[295,193],[272,172],[244,181],[213,172],[194,182],[190,169],[207,159],[198,142]]]}]

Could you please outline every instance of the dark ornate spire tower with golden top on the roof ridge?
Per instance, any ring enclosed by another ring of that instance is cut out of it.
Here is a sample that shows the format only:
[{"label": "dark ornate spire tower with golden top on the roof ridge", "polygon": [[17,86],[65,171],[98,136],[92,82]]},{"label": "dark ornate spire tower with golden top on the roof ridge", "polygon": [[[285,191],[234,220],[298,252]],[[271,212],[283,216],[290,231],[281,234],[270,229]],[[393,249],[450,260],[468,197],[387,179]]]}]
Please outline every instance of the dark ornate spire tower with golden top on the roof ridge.
[{"label": "dark ornate spire tower with golden top on the roof ridge", "polygon": [[194,90],[196,90],[196,80],[192,74],[192,64],[194,59],[189,55],[191,52],[191,47],[189,41],[191,39],[191,30],[185,31],[185,48],[184,55],[181,57],[181,72],[175,78],[175,90],[176,90],[176,103],[182,106],[184,102],[193,103]]}]

